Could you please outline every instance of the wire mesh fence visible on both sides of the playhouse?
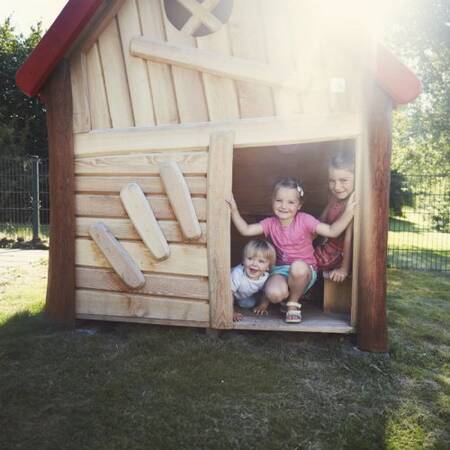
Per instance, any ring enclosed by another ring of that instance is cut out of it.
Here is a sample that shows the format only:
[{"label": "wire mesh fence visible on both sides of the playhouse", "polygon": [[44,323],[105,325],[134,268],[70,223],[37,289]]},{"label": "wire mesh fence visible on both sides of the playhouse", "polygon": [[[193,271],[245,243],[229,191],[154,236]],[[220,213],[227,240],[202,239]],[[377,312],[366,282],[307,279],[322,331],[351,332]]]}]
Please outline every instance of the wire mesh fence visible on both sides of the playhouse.
[{"label": "wire mesh fence visible on both sides of the playhouse", "polygon": [[[450,273],[448,174],[393,175],[389,266]],[[48,239],[49,208],[48,160],[0,158],[0,240]]]}]

